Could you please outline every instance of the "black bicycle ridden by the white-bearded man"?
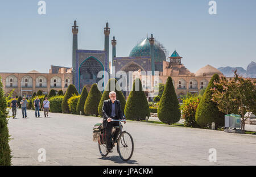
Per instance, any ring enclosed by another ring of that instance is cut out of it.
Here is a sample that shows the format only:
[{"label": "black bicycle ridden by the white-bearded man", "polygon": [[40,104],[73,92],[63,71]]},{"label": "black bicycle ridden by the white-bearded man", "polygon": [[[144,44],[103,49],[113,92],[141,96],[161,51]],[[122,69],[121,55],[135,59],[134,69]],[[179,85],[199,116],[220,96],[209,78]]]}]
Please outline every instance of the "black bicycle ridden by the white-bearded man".
[{"label": "black bicycle ridden by the white-bearded man", "polygon": [[[119,128],[119,132],[117,137],[115,138],[114,141],[112,141],[112,146],[114,145],[114,143],[117,141],[117,151],[119,154],[119,157],[123,160],[123,161],[129,161],[129,159],[131,158],[131,156],[133,155],[133,150],[134,150],[134,143],[133,143],[133,137],[131,137],[131,134],[126,132],[126,131],[122,131],[122,123],[121,121],[126,121],[125,119],[121,119],[121,120],[112,120],[112,121],[119,121],[119,126],[115,126],[114,128]],[[112,138],[113,138],[113,131],[112,131]],[[104,139],[104,137],[100,137],[101,138],[101,142],[98,141],[98,149],[100,150],[100,153],[103,157],[106,157],[109,153],[106,151],[106,141],[102,141],[102,139]]]}]

